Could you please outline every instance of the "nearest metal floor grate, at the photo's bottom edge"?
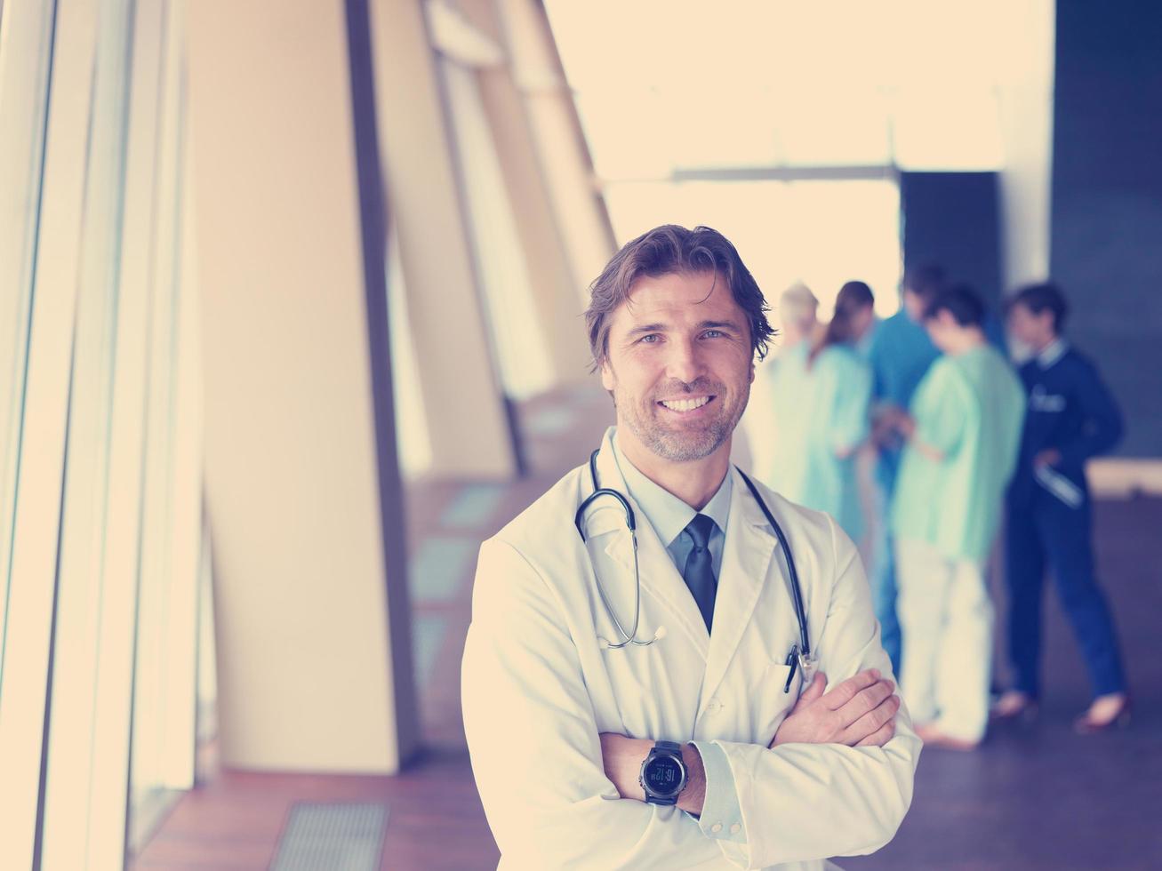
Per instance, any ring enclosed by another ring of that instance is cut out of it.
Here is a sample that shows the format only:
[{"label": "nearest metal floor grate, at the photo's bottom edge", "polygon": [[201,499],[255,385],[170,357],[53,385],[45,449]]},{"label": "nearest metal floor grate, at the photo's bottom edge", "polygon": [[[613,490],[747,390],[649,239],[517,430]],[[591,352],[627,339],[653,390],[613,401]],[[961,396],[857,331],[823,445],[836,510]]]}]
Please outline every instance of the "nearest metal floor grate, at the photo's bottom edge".
[{"label": "nearest metal floor grate, at the photo's bottom edge", "polygon": [[290,808],[271,871],[378,871],[387,805],[316,805]]}]

